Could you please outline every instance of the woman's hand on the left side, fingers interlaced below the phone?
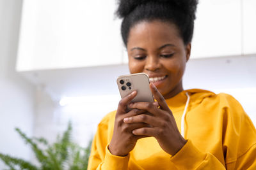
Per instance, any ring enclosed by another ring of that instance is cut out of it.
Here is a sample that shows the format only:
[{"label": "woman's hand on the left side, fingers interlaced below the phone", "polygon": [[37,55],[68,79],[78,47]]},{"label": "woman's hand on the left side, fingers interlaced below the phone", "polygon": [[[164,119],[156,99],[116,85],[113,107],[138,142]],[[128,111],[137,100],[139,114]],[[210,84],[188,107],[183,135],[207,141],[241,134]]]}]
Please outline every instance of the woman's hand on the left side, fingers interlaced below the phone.
[{"label": "woman's hand on the left side, fingers interlaced below the phone", "polygon": [[140,127],[148,127],[148,124],[145,123],[134,123],[134,124],[125,124],[125,117],[132,117],[135,115],[140,115],[144,113],[143,110],[133,109],[127,112],[127,105],[132,101],[136,96],[137,92],[134,91],[128,96],[124,97],[118,104],[116,111],[115,125],[113,136],[111,142],[109,143],[108,149],[113,155],[117,156],[126,156],[134,148],[136,142],[140,138],[145,138],[145,136],[135,136],[132,134],[134,129]]}]

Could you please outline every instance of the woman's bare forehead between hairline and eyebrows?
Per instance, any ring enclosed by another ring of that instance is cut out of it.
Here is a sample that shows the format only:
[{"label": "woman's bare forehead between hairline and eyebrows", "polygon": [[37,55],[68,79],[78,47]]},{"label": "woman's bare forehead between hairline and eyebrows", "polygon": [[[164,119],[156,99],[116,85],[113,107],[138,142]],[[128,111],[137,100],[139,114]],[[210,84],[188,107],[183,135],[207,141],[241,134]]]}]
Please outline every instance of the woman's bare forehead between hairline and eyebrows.
[{"label": "woman's bare forehead between hairline and eyebrows", "polygon": [[127,41],[127,48],[132,46],[161,46],[164,43],[179,45],[183,43],[175,24],[159,20],[143,21],[134,25]]}]

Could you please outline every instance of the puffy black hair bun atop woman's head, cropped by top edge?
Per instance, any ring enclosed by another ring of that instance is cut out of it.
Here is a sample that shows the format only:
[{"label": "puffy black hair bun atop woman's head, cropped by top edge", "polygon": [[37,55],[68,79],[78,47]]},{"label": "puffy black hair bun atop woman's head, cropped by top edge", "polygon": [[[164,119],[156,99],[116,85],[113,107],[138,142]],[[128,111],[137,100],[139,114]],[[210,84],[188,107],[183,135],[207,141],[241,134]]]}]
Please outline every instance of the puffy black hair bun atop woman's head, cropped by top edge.
[{"label": "puffy black hair bun atop woman's head, cropped by top edge", "polygon": [[179,8],[195,19],[198,0],[118,0],[118,10],[116,11],[116,15],[120,18],[125,18],[137,6],[147,3],[159,3],[175,6],[175,8]]}]

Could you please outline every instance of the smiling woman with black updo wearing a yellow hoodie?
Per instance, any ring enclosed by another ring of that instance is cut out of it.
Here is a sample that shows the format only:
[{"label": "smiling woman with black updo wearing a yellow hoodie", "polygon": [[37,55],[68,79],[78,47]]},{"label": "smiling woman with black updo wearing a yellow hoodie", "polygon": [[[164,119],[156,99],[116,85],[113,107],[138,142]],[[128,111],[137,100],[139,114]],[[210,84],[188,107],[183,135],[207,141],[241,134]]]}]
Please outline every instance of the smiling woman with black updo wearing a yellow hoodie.
[{"label": "smiling woman with black updo wearing a yellow hoodie", "polygon": [[255,127],[236,99],[182,87],[197,3],[120,1],[129,70],[148,74],[156,102],[124,97],[100,122],[88,169],[256,169]]}]

